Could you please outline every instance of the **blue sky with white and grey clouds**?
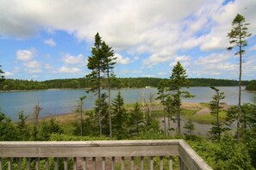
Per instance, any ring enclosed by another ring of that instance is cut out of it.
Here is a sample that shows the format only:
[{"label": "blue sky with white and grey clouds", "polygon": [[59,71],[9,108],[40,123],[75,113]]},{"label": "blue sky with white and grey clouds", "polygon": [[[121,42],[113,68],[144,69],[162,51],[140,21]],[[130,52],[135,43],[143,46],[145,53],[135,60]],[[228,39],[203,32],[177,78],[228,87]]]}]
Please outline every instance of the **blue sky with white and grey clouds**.
[{"label": "blue sky with white and grey clouds", "polygon": [[94,36],[115,52],[117,77],[237,80],[228,52],[235,15],[250,23],[242,79],[256,79],[255,0],[0,0],[0,65],[6,78],[44,81],[89,74]]}]

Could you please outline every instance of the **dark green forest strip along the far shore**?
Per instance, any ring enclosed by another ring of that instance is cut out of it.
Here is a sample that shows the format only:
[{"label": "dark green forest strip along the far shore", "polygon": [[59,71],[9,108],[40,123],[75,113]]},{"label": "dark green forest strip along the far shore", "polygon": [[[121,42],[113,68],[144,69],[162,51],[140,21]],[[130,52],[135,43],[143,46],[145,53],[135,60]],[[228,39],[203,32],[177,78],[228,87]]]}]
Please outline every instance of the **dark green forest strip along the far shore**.
[{"label": "dark green forest strip along the far shore", "polygon": [[[112,78],[111,88],[156,88],[160,81],[168,81],[162,78]],[[237,86],[238,81],[224,80],[224,79],[211,79],[211,78],[190,78],[190,87],[207,87],[207,86]],[[103,80],[104,81],[104,80]],[[104,83],[103,83],[104,84]],[[256,81],[243,81],[242,85],[247,86],[248,90],[256,89]],[[55,79],[43,82],[6,79],[0,83],[0,90],[34,90],[34,89],[49,89],[49,88],[90,88],[89,80],[85,78],[72,78],[72,79]]]}]

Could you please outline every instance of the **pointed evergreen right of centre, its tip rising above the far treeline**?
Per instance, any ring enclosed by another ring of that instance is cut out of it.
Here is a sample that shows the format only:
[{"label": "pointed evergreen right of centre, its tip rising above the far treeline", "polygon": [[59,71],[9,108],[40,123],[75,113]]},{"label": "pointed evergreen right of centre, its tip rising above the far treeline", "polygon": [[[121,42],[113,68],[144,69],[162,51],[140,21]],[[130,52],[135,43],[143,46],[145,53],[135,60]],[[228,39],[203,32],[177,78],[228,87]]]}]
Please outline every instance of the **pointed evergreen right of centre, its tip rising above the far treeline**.
[{"label": "pointed evergreen right of centre, its tip rising above the far treeline", "polygon": [[182,64],[179,62],[172,69],[172,76],[170,76],[169,81],[169,91],[172,93],[174,98],[174,105],[177,111],[177,119],[178,119],[178,134],[180,134],[180,106],[181,106],[181,98],[189,98],[192,95],[188,91],[182,91],[182,87],[188,88],[189,81],[187,80],[186,70],[184,70]]}]

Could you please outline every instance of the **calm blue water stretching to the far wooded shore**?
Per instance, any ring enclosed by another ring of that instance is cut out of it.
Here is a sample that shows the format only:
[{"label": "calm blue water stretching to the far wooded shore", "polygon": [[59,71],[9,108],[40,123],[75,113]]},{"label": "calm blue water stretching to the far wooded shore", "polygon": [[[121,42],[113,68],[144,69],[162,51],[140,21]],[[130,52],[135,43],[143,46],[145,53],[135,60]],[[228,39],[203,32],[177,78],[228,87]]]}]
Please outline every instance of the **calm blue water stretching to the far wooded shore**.
[{"label": "calm blue water stretching to the far wooded shore", "polygon": [[[221,92],[226,95],[223,102],[229,105],[236,105],[238,100],[238,87],[218,87]],[[112,99],[116,96],[119,90],[112,90]],[[156,88],[139,88],[139,89],[122,89],[120,90],[125,103],[140,102],[141,96],[148,99],[149,94],[157,96]],[[191,94],[196,95],[192,99],[184,99],[185,102],[209,102],[215,91],[207,87],[189,88]],[[106,91],[104,91],[106,92]],[[57,90],[38,90],[26,92],[1,92],[0,93],[0,107],[1,111],[10,118],[16,120],[18,112],[23,111],[27,115],[31,115],[34,106],[39,103],[43,108],[41,110],[41,117],[57,115],[61,113],[72,112],[77,105],[76,100],[79,97],[87,95],[84,100],[84,109],[91,109],[94,107],[94,97],[92,94],[86,94],[82,89],[57,89]],[[252,102],[256,94],[252,92],[242,91],[242,102]]]}]

